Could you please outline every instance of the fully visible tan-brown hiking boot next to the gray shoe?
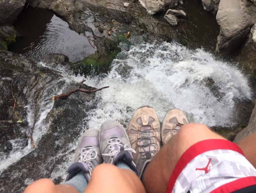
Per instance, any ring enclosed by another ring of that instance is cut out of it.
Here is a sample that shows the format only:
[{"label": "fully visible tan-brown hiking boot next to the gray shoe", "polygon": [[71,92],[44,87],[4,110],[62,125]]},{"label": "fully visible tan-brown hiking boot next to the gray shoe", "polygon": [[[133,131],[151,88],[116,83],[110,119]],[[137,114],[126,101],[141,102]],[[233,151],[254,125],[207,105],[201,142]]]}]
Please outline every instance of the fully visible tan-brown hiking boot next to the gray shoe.
[{"label": "fully visible tan-brown hiking boot next to the gray shoe", "polygon": [[134,162],[142,178],[147,164],[160,150],[160,122],[155,110],[151,107],[137,109],[128,126],[128,137],[136,154]]}]

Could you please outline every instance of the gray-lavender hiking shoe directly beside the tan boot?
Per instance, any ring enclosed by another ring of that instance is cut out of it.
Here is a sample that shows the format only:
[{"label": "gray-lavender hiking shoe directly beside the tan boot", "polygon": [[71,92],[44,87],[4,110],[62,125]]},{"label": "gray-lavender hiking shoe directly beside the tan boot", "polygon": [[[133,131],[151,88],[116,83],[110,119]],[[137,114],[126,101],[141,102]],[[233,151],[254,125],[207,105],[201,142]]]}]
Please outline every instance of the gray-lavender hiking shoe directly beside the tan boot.
[{"label": "gray-lavender hiking shoe directly beside the tan boot", "polygon": [[122,125],[115,120],[105,121],[100,127],[99,138],[104,163],[116,165],[122,161],[135,173],[138,173],[132,156],[135,151],[131,148],[128,136]]}]

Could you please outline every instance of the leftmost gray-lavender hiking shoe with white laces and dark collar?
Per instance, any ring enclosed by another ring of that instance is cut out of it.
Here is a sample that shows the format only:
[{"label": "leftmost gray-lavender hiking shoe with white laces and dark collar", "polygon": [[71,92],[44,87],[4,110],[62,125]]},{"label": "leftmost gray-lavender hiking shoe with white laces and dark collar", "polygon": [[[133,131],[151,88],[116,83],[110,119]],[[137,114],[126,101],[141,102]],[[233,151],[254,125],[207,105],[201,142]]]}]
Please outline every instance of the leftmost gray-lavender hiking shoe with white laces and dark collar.
[{"label": "leftmost gray-lavender hiking shoe with white laces and dark collar", "polygon": [[101,163],[103,159],[99,146],[99,130],[86,130],[77,146],[74,163],[68,168],[66,181],[82,171],[89,182],[92,170]]}]

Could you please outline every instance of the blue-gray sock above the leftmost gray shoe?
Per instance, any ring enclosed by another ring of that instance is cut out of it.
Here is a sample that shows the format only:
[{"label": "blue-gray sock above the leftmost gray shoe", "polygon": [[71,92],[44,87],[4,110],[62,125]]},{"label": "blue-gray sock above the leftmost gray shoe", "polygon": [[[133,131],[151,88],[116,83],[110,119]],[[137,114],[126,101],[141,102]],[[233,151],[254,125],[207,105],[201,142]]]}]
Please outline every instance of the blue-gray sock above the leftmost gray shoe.
[{"label": "blue-gray sock above the leftmost gray shoe", "polygon": [[73,186],[79,193],[83,193],[88,183],[84,177],[84,172],[79,172],[64,184]]}]

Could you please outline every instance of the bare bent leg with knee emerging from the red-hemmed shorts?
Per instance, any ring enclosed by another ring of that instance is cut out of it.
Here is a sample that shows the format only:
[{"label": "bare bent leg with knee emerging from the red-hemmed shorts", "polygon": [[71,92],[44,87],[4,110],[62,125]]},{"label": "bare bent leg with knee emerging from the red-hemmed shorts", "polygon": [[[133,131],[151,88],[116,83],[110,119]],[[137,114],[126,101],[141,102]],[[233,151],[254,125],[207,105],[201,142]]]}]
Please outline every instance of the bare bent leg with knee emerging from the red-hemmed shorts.
[{"label": "bare bent leg with knee emerging from the red-hemmed shorts", "polygon": [[[208,139],[224,139],[202,124],[186,124],[155,155],[146,168],[143,184],[148,193],[166,192],[170,176],[181,155],[192,145]],[[154,174],[154,175],[152,175]]]}]

